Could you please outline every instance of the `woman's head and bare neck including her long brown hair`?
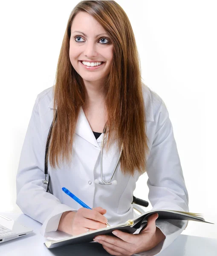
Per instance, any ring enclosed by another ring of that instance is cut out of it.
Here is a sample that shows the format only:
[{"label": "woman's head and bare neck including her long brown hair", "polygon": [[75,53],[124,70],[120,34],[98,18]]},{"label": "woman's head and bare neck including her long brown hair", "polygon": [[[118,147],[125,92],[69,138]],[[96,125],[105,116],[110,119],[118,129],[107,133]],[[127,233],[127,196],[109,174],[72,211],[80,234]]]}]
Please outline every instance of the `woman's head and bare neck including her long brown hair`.
[{"label": "woman's head and bare neck including her long brown hair", "polygon": [[57,67],[54,104],[61,116],[49,147],[52,167],[61,153],[62,159],[70,160],[73,142],[70,138],[68,145],[67,134],[74,134],[82,106],[93,131],[102,133],[107,125],[106,150],[114,137],[119,137],[119,149],[125,145],[120,159],[123,174],[144,173],[149,148],[141,80],[136,40],[121,6],[115,1],[78,3],[67,23]]}]

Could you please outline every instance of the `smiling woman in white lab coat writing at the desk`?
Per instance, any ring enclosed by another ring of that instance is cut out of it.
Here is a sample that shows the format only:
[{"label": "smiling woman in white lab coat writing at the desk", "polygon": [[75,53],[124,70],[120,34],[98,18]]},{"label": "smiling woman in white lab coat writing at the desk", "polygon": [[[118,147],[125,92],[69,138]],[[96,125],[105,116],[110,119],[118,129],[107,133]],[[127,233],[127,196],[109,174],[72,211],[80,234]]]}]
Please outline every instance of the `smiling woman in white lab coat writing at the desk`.
[{"label": "smiling woman in white lab coat writing at the desk", "polygon": [[[50,192],[46,192],[44,153],[56,113],[47,155]],[[105,182],[122,148],[109,185],[101,184],[104,128]],[[133,218],[133,191],[144,172],[153,209],[188,211],[168,111],[162,99],[142,83],[126,13],[115,1],[81,1],[68,20],[55,86],[39,93],[35,101],[17,172],[17,205],[43,223],[44,236],[56,230],[78,235],[104,228],[107,221],[114,225]],[[93,209],[81,207],[62,187]],[[151,249],[158,253],[182,232],[186,221],[157,217],[151,215],[139,234],[118,230],[116,237],[104,235],[95,241],[112,255]]]}]

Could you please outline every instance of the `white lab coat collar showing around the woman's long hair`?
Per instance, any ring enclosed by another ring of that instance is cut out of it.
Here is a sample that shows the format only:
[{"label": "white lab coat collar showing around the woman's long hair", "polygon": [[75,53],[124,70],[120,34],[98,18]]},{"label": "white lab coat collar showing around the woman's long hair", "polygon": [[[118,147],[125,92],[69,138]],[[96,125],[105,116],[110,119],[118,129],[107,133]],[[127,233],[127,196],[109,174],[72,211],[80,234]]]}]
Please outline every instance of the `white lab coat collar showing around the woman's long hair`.
[{"label": "white lab coat collar showing around the woman's long hair", "polygon": [[[146,111],[146,121],[153,122],[153,106],[151,102],[151,96],[150,96],[150,91],[145,90],[145,111]],[[49,104],[49,108],[51,109],[57,109],[56,107],[54,108],[53,104],[53,98],[52,101]],[[93,131],[90,127],[90,124],[87,120],[87,117],[84,114],[83,108],[80,108],[80,112],[78,114],[78,121],[77,125],[75,128],[75,133],[84,138],[84,140],[87,140],[89,143],[93,144],[97,148],[101,148],[98,143],[101,143],[102,141],[102,136],[103,134],[98,137],[98,139],[95,139],[95,136],[93,134]]]}]

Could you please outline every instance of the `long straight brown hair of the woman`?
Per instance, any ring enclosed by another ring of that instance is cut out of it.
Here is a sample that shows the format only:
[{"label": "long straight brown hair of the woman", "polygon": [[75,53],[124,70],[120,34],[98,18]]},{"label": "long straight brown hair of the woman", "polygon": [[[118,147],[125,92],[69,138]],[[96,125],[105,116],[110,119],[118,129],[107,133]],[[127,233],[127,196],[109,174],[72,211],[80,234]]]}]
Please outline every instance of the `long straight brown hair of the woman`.
[{"label": "long straight brown hair of the woman", "polygon": [[[60,155],[69,163],[72,158],[73,137],[81,106],[85,102],[84,82],[69,59],[71,25],[78,12],[92,15],[110,36],[113,61],[106,79],[105,106],[107,110],[107,151],[112,137],[118,138],[123,151],[120,158],[123,174],[133,175],[146,171],[148,137],[139,54],[130,21],[115,1],[81,1],[72,10],[58,59],[56,82],[53,90],[57,106],[57,121],[52,129],[49,160],[53,168]],[[55,111],[53,113],[55,116]]]}]

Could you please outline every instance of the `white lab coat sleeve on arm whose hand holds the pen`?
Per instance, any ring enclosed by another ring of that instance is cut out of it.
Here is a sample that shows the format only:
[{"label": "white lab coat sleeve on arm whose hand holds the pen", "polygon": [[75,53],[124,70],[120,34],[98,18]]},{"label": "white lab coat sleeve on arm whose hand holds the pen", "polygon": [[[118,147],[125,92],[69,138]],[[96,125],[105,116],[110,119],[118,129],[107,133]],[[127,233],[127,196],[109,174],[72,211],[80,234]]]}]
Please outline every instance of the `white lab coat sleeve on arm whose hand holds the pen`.
[{"label": "white lab coat sleeve on arm whose hand holds the pen", "polygon": [[[32,110],[32,116],[24,139],[20,162],[17,170],[17,201],[23,213],[43,223],[41,234],[56,231],[63,212],[73,211],[61,204],[58,198],[46,192],[44,180],[44,157],[46,142],[42,141],[38,97]],[[47,131],[48,133],[48,131]]]}]

